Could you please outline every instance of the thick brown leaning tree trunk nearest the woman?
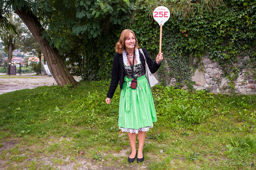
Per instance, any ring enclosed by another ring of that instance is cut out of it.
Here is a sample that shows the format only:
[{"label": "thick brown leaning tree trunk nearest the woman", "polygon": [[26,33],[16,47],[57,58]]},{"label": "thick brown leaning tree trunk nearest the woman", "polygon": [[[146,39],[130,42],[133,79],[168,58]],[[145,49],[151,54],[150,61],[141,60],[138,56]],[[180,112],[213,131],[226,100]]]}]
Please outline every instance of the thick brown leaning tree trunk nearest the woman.
[{"label": "thick brown leaning tree trunk nearest the woman", "polygon": [[32,11],[30,9],[26,10],[23,7],[21,10],[16,9],[15,13],[23,20],[37,43],[39,43],[40,49],[46,57],[47,65],[57,84],[61,87],[64,87],[67,84],[73,86],[77,85],[77,81],[69,73],[64,61],[61,59],[59,51],[55,47],[52,48],[50,46],[46,37],[42,38],[44,28]]}]

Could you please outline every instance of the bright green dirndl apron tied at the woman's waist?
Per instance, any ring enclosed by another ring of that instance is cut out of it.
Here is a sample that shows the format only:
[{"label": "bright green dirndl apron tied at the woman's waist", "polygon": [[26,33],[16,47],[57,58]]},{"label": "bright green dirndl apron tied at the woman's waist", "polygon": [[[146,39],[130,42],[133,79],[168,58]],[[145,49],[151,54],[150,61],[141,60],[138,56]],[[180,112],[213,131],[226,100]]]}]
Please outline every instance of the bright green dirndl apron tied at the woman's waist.
[{"label": "bright green dirndl apron tied at the woman's waist", "polygon": [[119,100],[118,126],[128,129],[151,127],[156,122],[153,95],[145,75],[137,78],[137,88],[132,89],[132,78],[124,77]]}]

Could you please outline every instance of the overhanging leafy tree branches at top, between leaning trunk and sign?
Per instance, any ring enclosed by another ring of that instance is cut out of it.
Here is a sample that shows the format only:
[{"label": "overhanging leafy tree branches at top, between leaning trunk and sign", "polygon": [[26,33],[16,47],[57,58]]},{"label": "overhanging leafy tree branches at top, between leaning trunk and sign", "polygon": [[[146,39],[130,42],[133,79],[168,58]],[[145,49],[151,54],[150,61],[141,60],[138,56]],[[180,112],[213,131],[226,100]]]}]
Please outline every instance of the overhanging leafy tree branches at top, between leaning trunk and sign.
[{"label": "overhanging leafy tree branches at top, between leaning trunk and sign", "polygon": [[112,26],[119,27],[122,21],[130,18],[133,9],[133,3],[126,0],[46,0],[37,5],[35,8],[40,14],[49,18],[44,20],[43,25],[47,26],[44,33],[60,51],[69,50],[70,35],[83,35],[85,40],[96,38]]}]

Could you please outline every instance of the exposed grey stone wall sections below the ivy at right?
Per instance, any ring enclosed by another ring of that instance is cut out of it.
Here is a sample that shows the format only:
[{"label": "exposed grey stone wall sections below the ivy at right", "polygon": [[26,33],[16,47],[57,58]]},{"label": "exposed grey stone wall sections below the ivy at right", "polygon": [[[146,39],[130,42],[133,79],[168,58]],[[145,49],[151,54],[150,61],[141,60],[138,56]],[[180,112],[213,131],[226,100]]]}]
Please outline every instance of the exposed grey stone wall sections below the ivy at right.
[{"label": "exposed grey stone wall sections below the ivy at right", "polygon": [[[208,89],[213,93],[230,93],[228,80],[221,77],[222,69],[217,63],[208,58],[203,57],[204,69],[196,69],[195,75],[191,81],[195,81],[193,88],[196,90]],[[175,85],[175,78],[170,78],[170,84]],[[184,87],[186,88],[186,86]],[[253,74],[247,75],[246,70],[242,69],[235,83],[236,94],[256,94],[256,80],[253,80]]]}]

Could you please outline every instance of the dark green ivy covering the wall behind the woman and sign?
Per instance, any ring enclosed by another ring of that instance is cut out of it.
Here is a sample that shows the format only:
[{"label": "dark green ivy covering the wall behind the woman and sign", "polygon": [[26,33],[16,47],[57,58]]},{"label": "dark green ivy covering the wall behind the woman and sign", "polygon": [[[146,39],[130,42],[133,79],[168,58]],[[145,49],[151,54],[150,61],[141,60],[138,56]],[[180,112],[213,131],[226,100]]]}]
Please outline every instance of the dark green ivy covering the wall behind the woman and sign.
[{"label": "dark green ivy covering the wall behind the woman and sign", "polygon": [[[154,59],[159,50],[160,26],[148,14],[147,4],[139,4],[129,21],[113,27],[89,45],[93,55],[88,55],[85,80],[109,79],[114,46],[122,29],[132,29],[140,47],[145,47]],[[196,9],[195,9],[196,11]],[[191,84],[191,76],[199,68],[203,70],[202,58],[209,56],[222,68],[230,89],[245,68],[254,74],[256,65],[256,1],[224,0],[212,12],[201,11],[186,19],[171,16],[163,26],[162,52],[165,61],[158,71],[161,83],[168,85]],[[90,51],[89,50],[89,51]],[[195,62],[196,59],[196,62]],[[93,65],[91,65],[93,63]],[[190,82],[190,83],[189,83]]]}]

